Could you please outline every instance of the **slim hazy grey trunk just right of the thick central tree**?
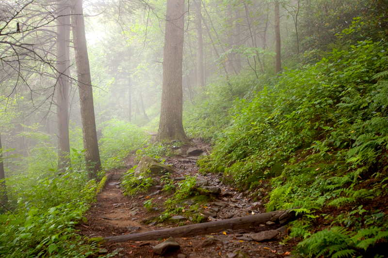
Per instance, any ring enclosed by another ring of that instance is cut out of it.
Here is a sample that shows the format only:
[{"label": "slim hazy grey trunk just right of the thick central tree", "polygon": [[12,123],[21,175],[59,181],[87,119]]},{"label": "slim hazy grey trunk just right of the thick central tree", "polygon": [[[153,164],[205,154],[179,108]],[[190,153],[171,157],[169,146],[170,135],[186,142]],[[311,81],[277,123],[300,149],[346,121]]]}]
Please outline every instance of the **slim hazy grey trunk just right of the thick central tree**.
[{"label": "slim hazy grey trunk just right of the thick central tree", "polygon": [[197,70],[197,86],[205,86],[203,75],[203,41],[202,41],[202,14],[201,14],[201,1],[195,0],[195,37],[196,37],[196,70]]}]

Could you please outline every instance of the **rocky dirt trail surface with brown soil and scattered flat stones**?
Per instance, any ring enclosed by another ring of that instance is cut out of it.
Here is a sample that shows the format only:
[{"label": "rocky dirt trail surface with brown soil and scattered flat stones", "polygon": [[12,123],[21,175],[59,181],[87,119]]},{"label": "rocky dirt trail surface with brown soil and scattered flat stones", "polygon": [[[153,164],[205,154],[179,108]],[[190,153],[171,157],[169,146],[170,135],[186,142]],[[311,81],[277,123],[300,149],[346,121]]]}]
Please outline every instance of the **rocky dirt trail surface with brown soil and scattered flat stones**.
[{"label": "rocky dirt trail surface with brown soil and scattered flat stones", "polygon": [[[189,146],[190,147],[190,146]],[[201,175],[196,167],[197,157],[175,156],[174,158],[165,158],[166,165],[176,171],[172,177],[182,178],[185,175],[197,177],[197,180],[208,180],[209,185],[217,186],[222,189],[222,195],[216,196],[212,202],[203,205],[200,212],[207,212],[210,216],[209,221],[221,220],[232,217],[248,216],[252,213],[265,212],[264,203],[253,202],[244,193],[236,191],[220,182],[221,174]],[[129,155],[126,164],[136,165],[134,155]],[[141,220],[160,216],[163,210],[163,203],[172,194],[165,194],[158,191],[158,187],[151,187],[146,194],[139,194],[134,197],[125,197],[121,188],[116,184],[120,182],[121,175],[127,172],[127,169],[118,169],[110,173],[109,179],[105,184],[103,191],[97,195],[97,202],[92,204],[89,213],[86,214],[87,222],[82,222],[77,226],[80,234],[90,238],[111,237],[130,233],[146,232],[163,228],[172,228],[193,224],[189,218],[172,222],[168,220],[154,225],[145,225]],[[159,186],[160,188],[160,186]],[[246,193],[245,193],[246,194]],[[153,203],[158,207],[158,211],[149,212],[144,207],[144,202],[153,197]],[[187,206],[189,208],[189,206]],[[166,253],[162,257],[168,258],[282,258],[290,256],[292,247],[297,243],[296,240],[289,240],[287,243],[281,243],[286,236],[286,232],[279,232],[275,238],[267,242],[255,242],[249,236],[251,233],[275,229],[276,226],[260,225],[260,228],[248,228],[244,230],[227,229],[219,233],[203,234],[194,237],[179,237],[175,240],[180,244],[180,249],[174,252]],[[277,226],[276,228],[279,228]],[[136,230],[134,230],[136,229]],[[284,229],[283,229],[284,230]],[[209,241],[212,238],[214,241]],[[160,257],[153,253],[153,247],[160,241],[138,241],[105,243],[101,246],[100,254],[114,253],[114,257],[121,258],[146,258]]]}]

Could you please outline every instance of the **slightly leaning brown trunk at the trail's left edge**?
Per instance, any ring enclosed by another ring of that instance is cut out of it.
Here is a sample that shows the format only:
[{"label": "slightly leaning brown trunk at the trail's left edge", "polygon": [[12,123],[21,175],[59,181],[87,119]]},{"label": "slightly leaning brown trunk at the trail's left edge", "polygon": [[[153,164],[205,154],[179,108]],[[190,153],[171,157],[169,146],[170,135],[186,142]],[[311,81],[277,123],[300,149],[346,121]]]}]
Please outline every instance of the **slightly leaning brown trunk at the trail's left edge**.
[{"label": "slightly leaning brown trunk at the trail's left edge", "polygon": [[88,50],[86,46],[85,24],[82,13],[82,0],[70,0],[74,48],[76,52],[77,80],[80,93],[83,147],[89,177],[97,176],[101,169],[98,152],[96,119],[93,106],[93,89],[90,78]]}]

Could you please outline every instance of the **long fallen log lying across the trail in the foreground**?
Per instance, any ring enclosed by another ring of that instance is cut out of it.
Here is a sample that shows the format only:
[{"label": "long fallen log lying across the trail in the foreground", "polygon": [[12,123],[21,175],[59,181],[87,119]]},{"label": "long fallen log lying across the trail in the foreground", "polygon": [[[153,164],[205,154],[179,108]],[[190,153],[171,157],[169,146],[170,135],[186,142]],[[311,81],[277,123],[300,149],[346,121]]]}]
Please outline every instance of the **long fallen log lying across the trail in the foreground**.
[{"label": "long fallen log lying across the trail in the foreground", "polygon": [[188,237],[200,234],[217,233],[229,228],[237,230],[257,227],[260,224],[264,224],[269,221],[273,213],[275,212],[266,212],[239,218],[231,218],[201,224],[187,225],[178,228],[166,228],[136,234],[106,237],[104,238],[104,240],[107,242],[158,240],[161,238],[163,239],[169,237]]}]

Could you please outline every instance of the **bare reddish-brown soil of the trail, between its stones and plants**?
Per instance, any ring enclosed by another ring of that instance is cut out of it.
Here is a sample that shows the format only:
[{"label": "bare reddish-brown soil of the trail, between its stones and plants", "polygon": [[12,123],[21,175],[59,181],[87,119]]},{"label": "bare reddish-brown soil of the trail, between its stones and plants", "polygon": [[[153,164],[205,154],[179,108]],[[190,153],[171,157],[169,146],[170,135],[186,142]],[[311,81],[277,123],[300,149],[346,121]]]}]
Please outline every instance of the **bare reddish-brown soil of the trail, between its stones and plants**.
[{"label": "bare reddish-brown soil of the trail, between its stones and plants", "polygon": [[[190,147],[190,146],[189,146]],[[199,146],[200,147],[200,146]],[[187,148],[186,148],[187,149]],[[196,167],[196,160],[187,160],[182,161],[182,158],[176,156],[171,159],[166,159],[166,163],[172,165],[172,168],[175,169],[176,173],[172,175],[175,177],[182,177],[183,175],[196,176],[198,173],[198,168]],[[185,159],[185,158],[184,158]],[[127,164],[136,165],[134,162],[134,156],[131,155],[127,158]],[[88,236],[90,238],[94,237],[110,237],[123,234],[129,234],[127,230],[128,226],[140,227],[136,232],[145,232],[156,230],[160,228],[169,228],[169,227],[178,227],[178,223],[168,224],[162,223],[156,226],[149,226],[140,224],[139,221],[143,218],[160,215],[162,212],[163,202],[169,197],[168,195],[160,192],[152,197],[154,197],[153,202],[156,203],[157,207],[160,207],[160,210],[157,212],[148,212],[144,208],[144,201],[147,200],[149,194],[155,192],[155,188],[149,189],[146,194],[139,194],[135,197],[125,197],[120,188],[116,188],[115,184],[120,182],[122,173],[127,172],[127,169],[118,169],[111,172],[108,182],[103,189],[103,191],[97,195],[97,202],[91,206],[89,213],[86,215],[87,222],[81,223],[77,226],[77,229],[80,230],[80,234]],[[206,175],[204,176],[209,180],[210,185],[216,184],[223,189],[225,192],[229,192],[229,197],[238,197],[240,193],[235,192],[235,189],[227,187],[220,182],[217,182],[217,175]],[[144,196],[143,198],[139,198]],[[224,195],[225,196],[225,195]],[[151,198],[151,197],[150,197]],[[222,198],[222,197],[218,197]],[[223,199],[226,200],[225,197]],[[215,199],[215,202],[222,200]],[[253,200],[249,197],[240,197],[236,203],[242,203],[245,207],[250,206]],[[114,208],[113,204],[121,203],[117,208]],[[133,208],[138,209],[138,214],[130,216],[131,210]],[[189,206],[187,206],[189,208]],[[226,213],[234,212],[235,216],[246,216],[251,214],[247,212],[245,208],[226,208],[220,207],[220,211],[217,213],[216,218],[223,218]],[[203,211],[210,211],[209,208],[203,207]],[[233,210],[231,210],[233,209]],[[249,211],[250,209],[248,209]],[[254,206],[252,211],[264,212],[264,206]],[[184,213],[183,213],[184,215]],[[185,225],[192,224],[190,220],[183,222]],[[269,227],[262,227],[262,229]],[[273,228],[271,228],[273,229]],[[260,230],[260,231],[261,231]],[[286,233],[280,233],[275,239],[272,239],[268,242],[255,242],[255,241],[246,241],[237,239],[237,237],[243,237],[244,234],[249,234],[251,232],[257,232],[258,228],[249,228],[246,230],[231,231],[226,230],[224,232],[209,234],[209,235],[198,235],[194,237],[187,238],[175,238],[175,240],[180,244],[180,249],[178,251],[164,254],[163,257],[176,258],[178,254],[184,254],[187,258],[227,258],[228,254],[232,253],[234,250],[242,250],[248,254],[248,257],[258,258],[258,257],[286,257],[290,256],[292,247],[296,244],[296,240],[290,240],[286,244],[280,244],[284,240]],[[202,244],[210,237],[217,238],[213,244],[201,247]],[[121,258],[145,258],[145,257],[160,257],[152,252],[152,249],[160,241],[141,241],[141,242],[122,242],[122,243],[105,243],[101,246],[101,249],[106,249],[109,253],[117,248],[123,248],[116,256]]]}]

